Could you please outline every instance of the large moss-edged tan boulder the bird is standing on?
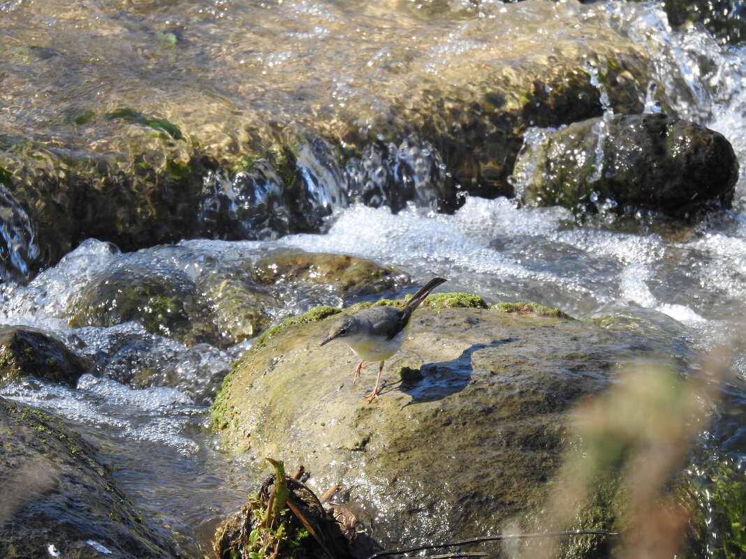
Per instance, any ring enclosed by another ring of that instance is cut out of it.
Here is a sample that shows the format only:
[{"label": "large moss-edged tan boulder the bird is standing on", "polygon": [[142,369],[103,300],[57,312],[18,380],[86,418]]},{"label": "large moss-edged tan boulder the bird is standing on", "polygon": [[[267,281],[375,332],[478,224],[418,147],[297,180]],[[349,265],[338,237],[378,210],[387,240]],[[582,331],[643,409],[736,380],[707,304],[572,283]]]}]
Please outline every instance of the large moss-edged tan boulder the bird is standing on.
[{"label": "large moss-edged tan boulder the bird is standing on", "polygon": [[317,487],[344,484],[387,548],[484,535],[541,502],[572,403],[603,390],[618,362],[670,347],[536,306],[435,300],[470,306],[418,309],[370,405],[377,365],[352,386],[351,350],[319,347],[333,309],[266,336],[213,405],[225,444],[303,463]]}]

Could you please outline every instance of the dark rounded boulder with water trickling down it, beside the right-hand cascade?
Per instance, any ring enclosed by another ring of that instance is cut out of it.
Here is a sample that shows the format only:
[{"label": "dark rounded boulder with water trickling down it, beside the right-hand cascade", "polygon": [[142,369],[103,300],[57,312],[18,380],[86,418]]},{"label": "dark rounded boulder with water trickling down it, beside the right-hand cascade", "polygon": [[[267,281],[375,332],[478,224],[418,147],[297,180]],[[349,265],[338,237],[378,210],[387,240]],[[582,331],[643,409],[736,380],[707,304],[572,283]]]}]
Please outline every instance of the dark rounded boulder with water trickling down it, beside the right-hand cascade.
[{"label": "dark rounded boulder with water trickling down it, beside the right-hand cascade", "polygon": [[649,113],[570,124],[528,146],[514,172],[530,206],[685,216],[730,207],[738,167],[720,133]]}]

